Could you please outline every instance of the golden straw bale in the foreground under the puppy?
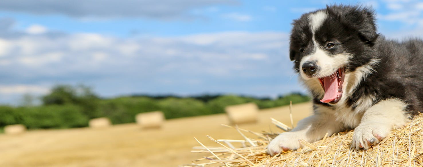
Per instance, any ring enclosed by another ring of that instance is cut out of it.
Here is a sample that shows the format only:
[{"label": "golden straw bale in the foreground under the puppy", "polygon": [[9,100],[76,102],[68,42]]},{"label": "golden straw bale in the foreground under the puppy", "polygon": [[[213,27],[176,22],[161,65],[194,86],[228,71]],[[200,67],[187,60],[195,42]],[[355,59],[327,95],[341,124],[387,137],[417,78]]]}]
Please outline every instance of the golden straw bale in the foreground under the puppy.
[{"label": "golden straw bale in the foreground under the puppy", "polygon": [[[300,140],[302,148],[287,151],[276,156],[269,156],[266,147],[276,133],[256,133],[239,129],[239,132],[250,132],[257,139],[214,140],[220,147],[207,147],[199,142],[194,147],[197,153],[212,153],[202,159],[185,164],[184,167],[226,166],[226,167],[409,167],[423,166],[423,115],[417,115],[410,123],[394,129],[379,144],[366,151],[350,149],[354,131],[333,134],[317,142],[308,143]],[[234,142],[244,146],[234,147]]]}]

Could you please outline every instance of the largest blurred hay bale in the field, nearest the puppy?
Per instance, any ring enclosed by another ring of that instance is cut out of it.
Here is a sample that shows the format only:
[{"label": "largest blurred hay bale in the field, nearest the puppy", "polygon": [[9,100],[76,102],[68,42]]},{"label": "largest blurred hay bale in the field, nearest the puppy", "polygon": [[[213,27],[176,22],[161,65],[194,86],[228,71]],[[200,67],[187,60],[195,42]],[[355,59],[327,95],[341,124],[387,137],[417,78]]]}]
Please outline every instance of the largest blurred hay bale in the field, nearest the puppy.
[{"label": "largest blurred hay bale in the field, nearest the puppy", "polygon": [[232,124],[257,122],[258,107],[255,103],[227,106],[225,112]]}]

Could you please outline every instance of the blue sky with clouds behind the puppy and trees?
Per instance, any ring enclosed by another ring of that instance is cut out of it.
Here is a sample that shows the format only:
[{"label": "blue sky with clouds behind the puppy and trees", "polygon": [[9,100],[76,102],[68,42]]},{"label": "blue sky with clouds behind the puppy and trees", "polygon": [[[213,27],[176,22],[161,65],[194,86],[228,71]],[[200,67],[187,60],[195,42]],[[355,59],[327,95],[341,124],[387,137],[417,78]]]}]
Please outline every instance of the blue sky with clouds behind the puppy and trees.
[{"label": "blue sky with clouds behind the puppy and trees", "polygon": [[372,6],[388,38],[423,35],[415,0],[2,0],[0,103],[56,84],[103,97],[304,92],[287,54],[291,22],[335,2]]}]

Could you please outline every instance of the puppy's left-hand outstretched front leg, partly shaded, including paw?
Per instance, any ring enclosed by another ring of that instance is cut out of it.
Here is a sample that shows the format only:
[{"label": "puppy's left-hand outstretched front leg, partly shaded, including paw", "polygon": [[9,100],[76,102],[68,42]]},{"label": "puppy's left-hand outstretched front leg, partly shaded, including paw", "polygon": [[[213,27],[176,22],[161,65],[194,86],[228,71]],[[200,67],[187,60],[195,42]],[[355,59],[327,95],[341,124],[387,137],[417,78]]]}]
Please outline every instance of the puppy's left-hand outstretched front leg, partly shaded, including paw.
[{"label": "puppy's left-hand outstretched front leg, partly shaded, including paw", "polygon": [[315,142],[324,137],[326,133],[332,135],[343,129],[341,123],[336,121],[329,113],[315,114],[298,122],[292,131],[281,133],[267,146],[267,152],[275,155],[282,151],[295,150],[301,147],[299,139]]}]

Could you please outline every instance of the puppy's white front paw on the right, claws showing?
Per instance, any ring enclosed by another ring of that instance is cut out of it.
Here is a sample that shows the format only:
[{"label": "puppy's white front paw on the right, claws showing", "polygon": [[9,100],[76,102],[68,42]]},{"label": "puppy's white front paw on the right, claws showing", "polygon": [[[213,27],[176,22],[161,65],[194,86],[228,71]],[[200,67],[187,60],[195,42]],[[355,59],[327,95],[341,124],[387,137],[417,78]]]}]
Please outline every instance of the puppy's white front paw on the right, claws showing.
[{"label": "puppy's white front paw on the right, claws showing", "polygon": [[351,147],[357,150],[360,148],[367,150],[370,146],[376,145],[382,141],[389,132],[390,129],[385,128],[385,126],[380,123],[360,124],[354,129]]}]

